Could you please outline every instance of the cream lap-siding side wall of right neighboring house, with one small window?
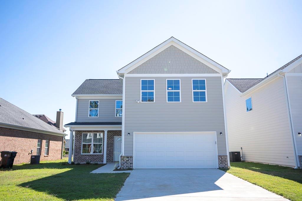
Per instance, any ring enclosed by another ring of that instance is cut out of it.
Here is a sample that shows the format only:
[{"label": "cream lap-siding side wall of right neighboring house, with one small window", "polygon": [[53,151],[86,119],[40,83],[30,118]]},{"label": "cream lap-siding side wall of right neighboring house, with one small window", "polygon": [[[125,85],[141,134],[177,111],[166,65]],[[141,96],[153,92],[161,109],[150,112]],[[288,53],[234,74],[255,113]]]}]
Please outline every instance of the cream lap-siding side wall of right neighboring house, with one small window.
[{"label": "cream lap-siding side wall of right neighboring house, with one small window", "polygon": [[[242,147],[245,161],[294,167],[284,79],[278,77],[243,97],[229,83],[226,87],[229,150],[241,151]],[[246,112],[249,97],[253,110]]]}]

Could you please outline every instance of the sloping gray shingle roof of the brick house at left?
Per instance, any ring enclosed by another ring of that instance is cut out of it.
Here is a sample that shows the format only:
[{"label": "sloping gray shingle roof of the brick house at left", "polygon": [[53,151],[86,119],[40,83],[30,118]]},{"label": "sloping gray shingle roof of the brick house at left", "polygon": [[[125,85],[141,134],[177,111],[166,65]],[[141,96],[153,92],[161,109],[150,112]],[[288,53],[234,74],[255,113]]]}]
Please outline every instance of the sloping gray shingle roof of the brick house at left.
[{"label": "sloping gray shingle roof of the brick house at left", "polygon": [[20,130],[23,130],[22,128],[30,128],[33,130],[46,131],[49,132],[49,134],[67,135],[2,98],[0,98],[0,127],[1,124],[3,126],[16,126],[19,127],[18,129]]}]

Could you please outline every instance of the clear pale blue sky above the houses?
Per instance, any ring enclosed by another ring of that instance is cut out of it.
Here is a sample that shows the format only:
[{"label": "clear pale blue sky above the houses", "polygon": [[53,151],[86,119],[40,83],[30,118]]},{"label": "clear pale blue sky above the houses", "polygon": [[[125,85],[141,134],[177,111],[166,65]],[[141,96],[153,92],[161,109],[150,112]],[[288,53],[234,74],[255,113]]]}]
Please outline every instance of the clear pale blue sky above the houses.
[{"label": "clear pale blue sky above the houses", "polygon": [[[302,54],[302,1],[1,1],[0,97],[74,121],[85,79],[117,79],[174,36],[224,67],[263,78]],[[67,131],[69,133],[69,131]]]}]

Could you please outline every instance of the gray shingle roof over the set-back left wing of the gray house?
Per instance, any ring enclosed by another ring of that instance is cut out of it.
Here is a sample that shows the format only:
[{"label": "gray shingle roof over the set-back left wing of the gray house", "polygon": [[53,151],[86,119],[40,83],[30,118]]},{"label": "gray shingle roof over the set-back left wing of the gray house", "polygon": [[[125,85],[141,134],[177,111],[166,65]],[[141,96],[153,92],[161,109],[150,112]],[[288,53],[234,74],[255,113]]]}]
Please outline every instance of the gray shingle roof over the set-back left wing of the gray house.
[{"label": "gray shingle roof over the set-back left wing of the gray house", "polygon": [[120,80],[85,80],[72,94],[123,94],[123,85]]}]

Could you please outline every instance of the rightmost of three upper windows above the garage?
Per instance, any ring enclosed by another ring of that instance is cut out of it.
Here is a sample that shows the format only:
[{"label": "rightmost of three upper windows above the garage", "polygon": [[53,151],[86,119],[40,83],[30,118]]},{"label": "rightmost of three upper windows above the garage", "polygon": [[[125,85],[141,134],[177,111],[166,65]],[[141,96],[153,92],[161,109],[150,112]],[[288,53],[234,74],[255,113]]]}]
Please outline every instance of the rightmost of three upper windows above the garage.
[{"label": "rightmost of three upper windows above the garage", "polygon": [[192,79],[193,102],[207,102],[207,82],[205,79]]}]

